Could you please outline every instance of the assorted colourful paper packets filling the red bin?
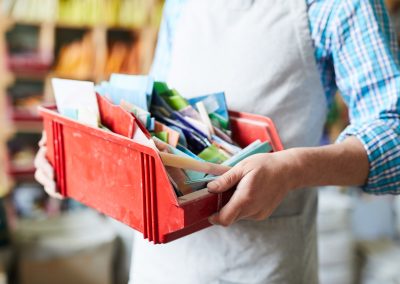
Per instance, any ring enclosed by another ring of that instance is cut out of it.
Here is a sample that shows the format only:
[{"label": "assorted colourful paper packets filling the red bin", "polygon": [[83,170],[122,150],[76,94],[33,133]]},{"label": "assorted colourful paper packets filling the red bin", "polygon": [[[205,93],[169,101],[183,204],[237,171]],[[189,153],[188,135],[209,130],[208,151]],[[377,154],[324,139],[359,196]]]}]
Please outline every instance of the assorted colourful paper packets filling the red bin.
[{"label": "assorted colourful paper packets filling the red bin", "polygon": [[269,142],[256,140],[242,149],[232,141],[224,93],[186,99],[150,76],[123,74],[97,86],[57,78],[52,85],[59,113],[84,124],[105,129],[96,93],[132,113],[141,124],[132,139],[159,152],[178,196],[205,188],[251,155],[272,150]]}]

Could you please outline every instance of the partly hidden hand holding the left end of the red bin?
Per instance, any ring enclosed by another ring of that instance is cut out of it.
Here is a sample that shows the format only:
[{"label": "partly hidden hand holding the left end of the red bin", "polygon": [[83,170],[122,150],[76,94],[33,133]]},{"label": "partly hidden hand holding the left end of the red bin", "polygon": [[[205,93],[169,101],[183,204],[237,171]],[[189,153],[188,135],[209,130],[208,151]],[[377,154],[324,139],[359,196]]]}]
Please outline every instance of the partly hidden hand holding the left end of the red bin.
[{"label": "partly hidden hand holding the left end of the red bin", "polygon": [[46,141],[46,132],[43,132],[42,139],[39,142],[40,149],[35,158],[35,179],[43,185],[48,195],[57,199],[64,199],[64,197],[57,192],[57,185],[54,180],[54,169],[46,159]]}]

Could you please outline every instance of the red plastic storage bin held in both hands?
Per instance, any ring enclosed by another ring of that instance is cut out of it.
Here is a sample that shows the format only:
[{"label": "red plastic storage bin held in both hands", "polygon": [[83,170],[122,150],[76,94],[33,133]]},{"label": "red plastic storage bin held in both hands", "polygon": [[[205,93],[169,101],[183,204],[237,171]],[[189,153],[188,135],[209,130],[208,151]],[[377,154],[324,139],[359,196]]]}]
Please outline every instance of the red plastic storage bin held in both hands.
[{"label": "red plastic storage bin held in both hands", "polygon": [[[177,197],[157,151],[130,139],[141,127],[134,116],[97,96],[102,124],[115,133],[61,116],[41,107],[47,133],[47,158],[55,168],[61,194],[143,233],[155,244],[167,243],[211,226],[208,217],[233,191],[207,189]],[[230,112],[233,138],[241,146],[256,139],[282,150],[269,118]]]}]

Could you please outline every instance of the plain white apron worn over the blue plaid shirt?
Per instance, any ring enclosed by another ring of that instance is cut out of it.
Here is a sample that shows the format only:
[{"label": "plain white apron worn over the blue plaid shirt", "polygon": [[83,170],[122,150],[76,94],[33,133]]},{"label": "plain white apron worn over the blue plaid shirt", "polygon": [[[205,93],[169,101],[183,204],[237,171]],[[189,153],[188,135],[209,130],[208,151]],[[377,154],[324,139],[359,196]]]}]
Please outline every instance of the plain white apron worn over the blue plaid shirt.
[{"label": "plain white apron worn over the blue plaid shirt", "polygon": [[[230,109],[271,117],[286,148],[320,141],[327,103],[305,0],[189,0],[168,82],[184,96],[225,91]],[[299,190],[266,221],[166,245],[137,234],[131,282],[317,283],[316,202],[314,190]]]}]

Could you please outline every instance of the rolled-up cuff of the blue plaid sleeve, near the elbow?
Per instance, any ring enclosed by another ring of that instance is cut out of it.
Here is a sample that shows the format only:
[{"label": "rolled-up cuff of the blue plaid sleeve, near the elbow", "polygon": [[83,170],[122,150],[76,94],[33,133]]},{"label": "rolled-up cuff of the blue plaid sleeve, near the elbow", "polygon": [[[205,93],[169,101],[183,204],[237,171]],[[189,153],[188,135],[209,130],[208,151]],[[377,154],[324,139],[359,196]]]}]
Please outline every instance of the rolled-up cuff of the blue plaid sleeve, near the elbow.
[{"label": "rolled-up cuff of the blue plaid sleeve, near the elbow", "polygon": [[367,193],[400,193],[400,125],[396,121],[375,120],[362,125],[349,125],[337,139],[357,137],[368,154],[368,181],[362,186]]}]

